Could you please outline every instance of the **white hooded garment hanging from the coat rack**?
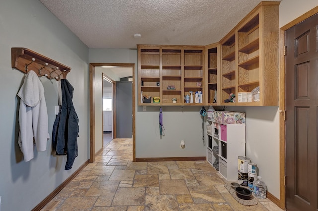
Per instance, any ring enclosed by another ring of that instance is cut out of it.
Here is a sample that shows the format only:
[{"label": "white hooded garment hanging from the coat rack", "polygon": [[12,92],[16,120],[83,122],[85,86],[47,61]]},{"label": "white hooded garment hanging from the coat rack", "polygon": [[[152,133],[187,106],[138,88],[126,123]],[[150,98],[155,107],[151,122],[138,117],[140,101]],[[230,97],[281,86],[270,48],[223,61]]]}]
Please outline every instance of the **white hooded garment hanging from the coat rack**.
[{"label": "white hooded garment hanging from the coat rack", "polygon": [[38,151],[45,151],[48,133],[48,113],[46,109],[44,88],[34,71],[29,71],[18,92],[21,98],[19,110],[19,146],[24,160],[33,158],[33,137]]}]

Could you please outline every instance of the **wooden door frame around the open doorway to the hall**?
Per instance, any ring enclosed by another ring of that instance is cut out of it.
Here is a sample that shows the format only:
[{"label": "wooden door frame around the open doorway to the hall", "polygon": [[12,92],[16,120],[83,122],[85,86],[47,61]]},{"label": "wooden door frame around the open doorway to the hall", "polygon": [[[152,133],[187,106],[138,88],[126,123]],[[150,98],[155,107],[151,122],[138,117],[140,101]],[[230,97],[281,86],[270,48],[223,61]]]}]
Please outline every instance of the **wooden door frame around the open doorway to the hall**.
[{"label": "wooden door frame around the open doorway to the hall", "polygon": [[[89,162],[95,162],[95,99],[96,96],[94,92],[96,90],[96,81],[95,81],[95,68],[101,66],[114,66],[118,68],[132,68],[132,75],[133,75],[133,89],[132,89],[132,110],[133,110],[133,162],[136,161],[136,153],[135,153],[135,63],[89,63],[89,133],[90,133],[90,159]],[[114,112],[115,113],[115,112]],[[113,115],[113,118],[116,114]],[[114,136],[115,137],[115,136]]]}]

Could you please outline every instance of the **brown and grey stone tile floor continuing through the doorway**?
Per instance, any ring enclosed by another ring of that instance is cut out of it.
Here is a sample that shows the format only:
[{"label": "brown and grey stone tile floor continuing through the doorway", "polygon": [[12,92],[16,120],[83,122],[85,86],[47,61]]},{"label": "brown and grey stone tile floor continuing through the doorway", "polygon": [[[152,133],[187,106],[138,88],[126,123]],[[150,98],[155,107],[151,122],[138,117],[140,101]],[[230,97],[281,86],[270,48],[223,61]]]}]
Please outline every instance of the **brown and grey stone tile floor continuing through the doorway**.
[{"label": "brown and grey stone tile floor continuing through the doorway", "polygon": [[45,208],[55,202],[52,211],[282,211],[268,199],[241,205],[224,183],[206,161],[132,162],[132,139],[114,139]]}]

